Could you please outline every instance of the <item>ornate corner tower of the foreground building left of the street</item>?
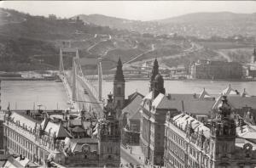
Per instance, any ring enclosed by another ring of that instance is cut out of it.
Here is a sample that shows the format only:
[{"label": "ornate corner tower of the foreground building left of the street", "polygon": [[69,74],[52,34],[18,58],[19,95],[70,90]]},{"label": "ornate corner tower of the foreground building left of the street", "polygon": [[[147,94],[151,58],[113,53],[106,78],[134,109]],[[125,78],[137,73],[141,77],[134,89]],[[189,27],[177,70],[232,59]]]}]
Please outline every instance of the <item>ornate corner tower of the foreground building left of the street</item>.
[{"label": "ornate corner tower of the foreground building left of the street", "polygon": [[103,109],[104,117],[97,126],[99,140],[99,167],[119,167],[120,165],[120,129],[116,109],[111,94]]}]

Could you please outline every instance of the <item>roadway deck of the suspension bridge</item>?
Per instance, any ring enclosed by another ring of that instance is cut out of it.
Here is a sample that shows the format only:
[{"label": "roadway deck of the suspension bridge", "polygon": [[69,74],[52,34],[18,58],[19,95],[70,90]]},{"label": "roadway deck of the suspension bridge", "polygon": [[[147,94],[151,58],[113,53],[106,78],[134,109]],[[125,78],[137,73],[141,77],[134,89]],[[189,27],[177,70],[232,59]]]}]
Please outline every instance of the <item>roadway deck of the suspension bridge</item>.
[{"label": "roadway deck of the suspension bridge", "polygon": [[[72,81],[72,73],[69,71],[67,74],[67,82],[71,85]],[[84,94],[84,90],[88,92],[88,94]],[[103,104],[99,104],[97,99],[93,96],[92,92],[90,92],[90,88],[82,81],[79,77],[77,77],[77,92],[78,92],[78,100],[79,100],[79,109],[84,108],[86,111],[92,109],[92,111],[96,112],[97,115],[103,115]],[[88,103],[92,102],[92,103]]]}]

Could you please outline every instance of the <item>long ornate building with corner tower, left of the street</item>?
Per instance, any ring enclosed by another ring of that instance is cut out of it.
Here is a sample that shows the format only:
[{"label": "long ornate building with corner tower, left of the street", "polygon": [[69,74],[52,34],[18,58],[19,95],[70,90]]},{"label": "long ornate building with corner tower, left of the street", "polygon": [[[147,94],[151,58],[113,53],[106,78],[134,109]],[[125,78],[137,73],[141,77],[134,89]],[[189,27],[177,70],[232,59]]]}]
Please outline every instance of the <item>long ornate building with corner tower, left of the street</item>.
[{"label": "long ornate building with corner tower, left of the street", "polygon": [[62,167],[118,167],[119,120],[112,95],[103,118],[62,111],[9,111],[4,117],[6,154],[20,154],[36,165]]}]

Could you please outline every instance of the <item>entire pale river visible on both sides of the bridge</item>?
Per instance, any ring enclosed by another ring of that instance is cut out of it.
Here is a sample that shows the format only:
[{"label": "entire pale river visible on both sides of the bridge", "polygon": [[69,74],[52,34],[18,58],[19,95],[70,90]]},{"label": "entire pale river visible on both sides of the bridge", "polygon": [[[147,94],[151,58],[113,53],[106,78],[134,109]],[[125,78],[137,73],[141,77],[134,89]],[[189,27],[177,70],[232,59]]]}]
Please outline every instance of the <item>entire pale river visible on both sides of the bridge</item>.
[{"label": "entire pale river visible on both sides of the bridge", "polygon": [[[166,93],[199,93],[205,87],[210,94],[218,94],[228,87],[242,92],[246,88],[256,95],[256,81],[165,81]],[[125,97],[132,92],[148,93],[149,81],[126,81]],[[113,81],[103,81],[102,96],[113,92]],[[6,109],[67,109],[68,98],[61,82],[55,81],[2,81],[2,107]],[[35,104],[35,105],[34,105]]]}]

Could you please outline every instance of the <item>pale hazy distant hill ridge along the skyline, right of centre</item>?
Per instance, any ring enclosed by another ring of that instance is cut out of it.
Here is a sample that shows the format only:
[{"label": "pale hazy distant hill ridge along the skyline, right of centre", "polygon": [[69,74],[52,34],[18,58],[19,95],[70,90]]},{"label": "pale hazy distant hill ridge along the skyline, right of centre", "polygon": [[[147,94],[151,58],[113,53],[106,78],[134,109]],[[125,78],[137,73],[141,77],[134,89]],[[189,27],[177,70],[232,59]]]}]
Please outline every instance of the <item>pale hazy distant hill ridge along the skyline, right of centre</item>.
[{"label": "pale hazy distant hill ridge along the skyline, right of centre", "polygon": [[[101,14],[79,14],[88,24],[139,31],[141,33],[172,34],[208,38],[211,36],[256,36],[256,13],[230,12],[184,14],[165,20],[138,21],[109,17]],[[74,16],[73,18],[77,17]]]}]

